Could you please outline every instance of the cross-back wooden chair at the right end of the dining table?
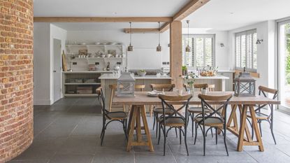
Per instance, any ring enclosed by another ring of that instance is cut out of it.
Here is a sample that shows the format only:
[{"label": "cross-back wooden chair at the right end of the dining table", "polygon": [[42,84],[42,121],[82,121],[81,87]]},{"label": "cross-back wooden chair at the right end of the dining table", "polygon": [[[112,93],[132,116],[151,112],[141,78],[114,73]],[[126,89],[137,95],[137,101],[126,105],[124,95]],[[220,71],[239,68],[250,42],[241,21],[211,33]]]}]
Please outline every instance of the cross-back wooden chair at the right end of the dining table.
[{"label": "cross-back wooden chair at the right end of the dining table", "polygon": [[[267,97],[266,93],[273,94],[273,99],[277,99],[278,97],[278,90],[274,90],[268,87],[259,86],[259,95],[263,95],[264,97]],[[259,123],[260,133],[262,136],[262,128],[261,128],[261,122],[266,121],[270,124],[271,134],[273,136],[274,143],[276,144],[274,132],[273,132],[273,104],[268,104],[270,108],[270,114],[261,113],[261,108],[267,106],[267,104],[259,105],[258,108],[255,109],[255,115],[256,120]],[[252,126],[252,123],[249,121],[249,118],[252,118],[252,116],[248,113],[247,114],[247,120],[249,124]],[[254,128],[252,127],[252,139],[254,138]]]}]

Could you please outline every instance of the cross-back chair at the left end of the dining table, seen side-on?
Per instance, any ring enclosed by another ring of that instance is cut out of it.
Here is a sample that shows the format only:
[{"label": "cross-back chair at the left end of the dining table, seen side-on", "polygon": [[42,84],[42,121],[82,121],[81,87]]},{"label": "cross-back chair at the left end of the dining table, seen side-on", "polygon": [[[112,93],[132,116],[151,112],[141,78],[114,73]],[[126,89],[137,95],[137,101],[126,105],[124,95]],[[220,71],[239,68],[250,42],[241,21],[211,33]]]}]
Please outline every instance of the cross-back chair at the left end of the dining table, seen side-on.
[{"label": "cross-back chair at the left end of the dining table, seen side-on", "polygon": [[[103,146],[103,138],[105,136],[106,128],[109,125],[109,123],[113,122],[113,121],[117,121],[117,122],[122,123],[124,134],[125,134],[125,137],[128,141],[128,136],[126,134],[126,128],[127,128],[126,124],[127,124],[127,118],[128,118],[127,113],[125,113],[124,111],[114,111],[114,112],[108,111],[106,109],[106,106],[105,106],[105,97],[103,95],[103,90],[101,87],[98,87],[96,89],[96,94],[98,94],[99,101],[100,101],[101,106],[102,106],[102,114],[103,114],[103,127],[102,127],[102,132],[101,132],[101,146]],[[107,122],[107,120],[108,120],[108,122]]]}]

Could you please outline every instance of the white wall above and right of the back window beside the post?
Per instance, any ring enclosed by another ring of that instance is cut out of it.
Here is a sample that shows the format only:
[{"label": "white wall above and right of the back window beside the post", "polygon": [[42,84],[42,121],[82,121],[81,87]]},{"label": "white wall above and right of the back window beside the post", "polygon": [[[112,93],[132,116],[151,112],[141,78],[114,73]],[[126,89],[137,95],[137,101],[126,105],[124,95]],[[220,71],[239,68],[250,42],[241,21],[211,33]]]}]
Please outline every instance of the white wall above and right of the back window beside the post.
[{"label": "white wall above and right of the back window beside the post", "polygon": [[[187,28],[182,29],[182,34],[187,34]],[[219,66],[219,70],[229,70],[229,44],[228,31],[214,31],[211,29],[189,29],[189,34],[214,34],[215,35],[215,66]],[[220,46],[224,43],[224,47]]]}]

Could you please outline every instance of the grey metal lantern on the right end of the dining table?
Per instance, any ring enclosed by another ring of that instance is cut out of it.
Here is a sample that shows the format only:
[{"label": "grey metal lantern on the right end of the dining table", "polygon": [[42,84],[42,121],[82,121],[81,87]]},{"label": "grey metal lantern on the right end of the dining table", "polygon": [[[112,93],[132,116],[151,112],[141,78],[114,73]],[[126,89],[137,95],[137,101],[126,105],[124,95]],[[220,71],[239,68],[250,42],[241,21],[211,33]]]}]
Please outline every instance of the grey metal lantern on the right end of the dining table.
[{"label": "grey metal lantern on the right end of the dining table", "polygon": [[256,80],[250,76],[249,72],[240,72],[238,78],[235,78],[235,96],[237,97],[255,97]]}]

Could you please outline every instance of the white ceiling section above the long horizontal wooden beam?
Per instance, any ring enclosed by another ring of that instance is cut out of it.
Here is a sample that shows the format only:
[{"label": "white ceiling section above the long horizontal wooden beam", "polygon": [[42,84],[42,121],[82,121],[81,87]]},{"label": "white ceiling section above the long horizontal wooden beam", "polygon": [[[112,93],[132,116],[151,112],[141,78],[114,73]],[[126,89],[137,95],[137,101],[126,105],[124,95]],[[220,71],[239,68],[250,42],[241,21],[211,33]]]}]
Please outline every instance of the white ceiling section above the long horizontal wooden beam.
[{"label": "white ceiling section above the long horizontal wooden beam", "polygon": [[34,0],[34,16],[172,16],[190,0]]}]

